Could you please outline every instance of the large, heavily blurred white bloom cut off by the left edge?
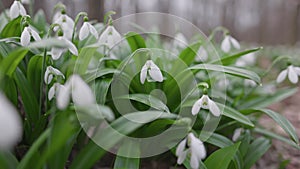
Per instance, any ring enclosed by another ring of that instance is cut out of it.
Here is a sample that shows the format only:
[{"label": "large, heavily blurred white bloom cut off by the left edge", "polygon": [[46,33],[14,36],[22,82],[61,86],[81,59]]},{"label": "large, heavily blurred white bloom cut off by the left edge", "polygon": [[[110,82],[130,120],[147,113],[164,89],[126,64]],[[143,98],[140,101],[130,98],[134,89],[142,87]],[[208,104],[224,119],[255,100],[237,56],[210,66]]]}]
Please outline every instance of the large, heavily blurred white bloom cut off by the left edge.
[{"label": "large, heavily blurred white bloom cut off by the left edge", "polygon": [[22,136],[22,123],[15,107],[0,92],[0,149],[12,148]]}]

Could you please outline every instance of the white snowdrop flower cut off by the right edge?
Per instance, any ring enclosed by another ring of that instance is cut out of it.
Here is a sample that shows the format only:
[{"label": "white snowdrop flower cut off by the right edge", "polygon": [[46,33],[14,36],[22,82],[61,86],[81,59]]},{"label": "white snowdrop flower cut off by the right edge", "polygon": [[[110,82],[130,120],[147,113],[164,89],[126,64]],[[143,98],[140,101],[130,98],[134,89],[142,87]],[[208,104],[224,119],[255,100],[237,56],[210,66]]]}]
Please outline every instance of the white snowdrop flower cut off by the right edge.
[{"label": "white snowdrop flower cut off by the right edge", "polygon": [[290,82],[296,84],[298,82],[298,76],[300,76],[300,67],[294,67],[290,65],[287,69],[281,71],[276,79],[277,83],[281,83],[288,76]]}]

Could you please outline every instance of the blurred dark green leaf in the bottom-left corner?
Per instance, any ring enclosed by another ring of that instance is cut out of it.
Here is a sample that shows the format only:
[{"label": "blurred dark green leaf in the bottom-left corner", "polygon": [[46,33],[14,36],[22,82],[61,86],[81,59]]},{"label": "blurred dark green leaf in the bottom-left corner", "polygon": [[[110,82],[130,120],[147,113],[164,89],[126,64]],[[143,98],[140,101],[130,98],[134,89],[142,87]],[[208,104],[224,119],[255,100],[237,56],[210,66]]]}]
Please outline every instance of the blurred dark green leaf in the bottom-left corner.
[{"label": "blurred dark green leaf in the bottom-left corner", "polygon": [[1,169],[15,169],[18,166],[18,164],[19,162],[17,158],[12,153],[0,151]]}]

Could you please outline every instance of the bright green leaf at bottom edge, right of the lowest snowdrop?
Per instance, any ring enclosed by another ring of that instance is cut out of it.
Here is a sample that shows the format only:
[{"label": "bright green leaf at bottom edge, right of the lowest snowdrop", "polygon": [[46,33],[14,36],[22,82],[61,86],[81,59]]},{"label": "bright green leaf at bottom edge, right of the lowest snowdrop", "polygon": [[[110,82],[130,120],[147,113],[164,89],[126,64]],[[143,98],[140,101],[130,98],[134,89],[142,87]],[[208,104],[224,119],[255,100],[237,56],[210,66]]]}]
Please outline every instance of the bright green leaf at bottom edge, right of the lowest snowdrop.
[{"label": "bright green leaf at bottom edge, right of the lowest snowdrop", "polygon": [[239,146],[240,143],[236,143],[215,151],[205,160],[204,164],[208,169],[227,169]]}]

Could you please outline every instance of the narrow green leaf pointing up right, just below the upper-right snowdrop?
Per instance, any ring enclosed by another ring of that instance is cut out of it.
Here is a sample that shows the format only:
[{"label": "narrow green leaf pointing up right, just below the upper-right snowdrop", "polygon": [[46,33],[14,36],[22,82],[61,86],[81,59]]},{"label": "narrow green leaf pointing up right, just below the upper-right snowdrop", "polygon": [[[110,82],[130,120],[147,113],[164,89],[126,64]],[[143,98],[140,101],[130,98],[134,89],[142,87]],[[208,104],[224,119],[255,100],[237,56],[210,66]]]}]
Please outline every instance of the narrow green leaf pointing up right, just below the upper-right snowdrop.
[{"label": "narrow green leaf pointing up right, just below the upper-right snowdrop", "polygon": [[238,58],[240,58],[241,56],[244,56],[244,55],[246,55],[246,54],[253,53],[253,52],[256,52],[256,51],[259,51],[259,50],[261,50],[261,49],[263,49],[263,48],[262,48],[262,47],[258,47],[258,48],[246,50],[246,51],[243,51],[243,52],[234,54],[234,55],[222,57],[220,60],[219,60],[219,59],[218,59],[218,60],[214,60],[214,61],[211,61],[210,63],[214,64],[214,63],[219,63],[219,62],[221,62],[222,65],[227,66],[227,65],[230,65],[230,64],[234,63],[234,62],[235,62]]}]

